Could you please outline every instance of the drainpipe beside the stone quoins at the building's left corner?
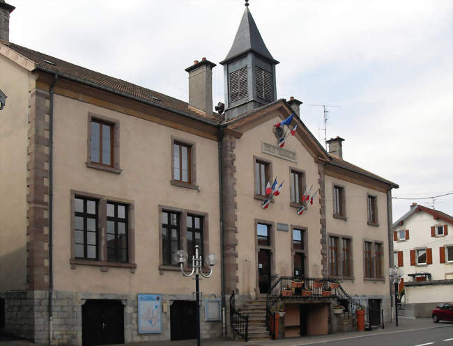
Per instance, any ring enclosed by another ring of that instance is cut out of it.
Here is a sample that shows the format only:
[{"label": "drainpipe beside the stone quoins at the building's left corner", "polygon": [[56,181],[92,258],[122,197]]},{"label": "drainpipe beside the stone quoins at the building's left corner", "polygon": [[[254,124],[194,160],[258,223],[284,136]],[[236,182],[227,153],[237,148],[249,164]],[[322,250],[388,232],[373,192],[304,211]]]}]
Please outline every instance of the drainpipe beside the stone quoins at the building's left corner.
[{"label": "drainpipe beside the stone quoins at the building's left corner", "polygon": [[58,73],[54,74],[54,81],[49,89],[50,95],[50,107],[49,107],[49,345],[52,345],[53,339],[53,323],[54,317],[52,315],[52,292],[54,290],[54,268],[52,265],[52,251],[53,251],[53,239],[52,239],[52,224],[53,224],[53,200],[54,200],[54,173],[53,173],[53,162],[54,162],[54,87],[56,81],[59,79]]}]

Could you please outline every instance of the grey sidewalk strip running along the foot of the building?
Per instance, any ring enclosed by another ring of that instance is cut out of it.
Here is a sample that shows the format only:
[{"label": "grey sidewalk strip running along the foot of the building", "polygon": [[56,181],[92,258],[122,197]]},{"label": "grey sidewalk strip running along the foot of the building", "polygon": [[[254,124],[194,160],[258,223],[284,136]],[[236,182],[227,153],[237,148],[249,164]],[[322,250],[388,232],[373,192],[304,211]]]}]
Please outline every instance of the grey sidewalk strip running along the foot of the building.
[{"label": "grey sidewalk strip running along the foot of the building", "polygon": [[[308,345],[311,343],[322,343],[331,340],[341,340],[347,338],[360,338],[362,336],[379,335],[385,333],[398,333],[400,331],[420,330],[420,329],[432,329],[442,327],[453,327],[453,323],[440,322],[433,323],[430,318],[417,318],[415,320],[400,319],[399,327],[395,327],[394,321],[386,324],[385,329],[374,329],[372,331],[351,331],[348,333],[335,333],[323,336],[303,336],[302,338],[289,338],[282,340],[256,340],[249,341],[235,341],[235,340],[214,340],[214,339],[202,339],[201,346],[301,346]],[[33,346],[35,344],[29,343],[24,340],[12,340],[0,336],[0,346]],[[181,341],[156,341],[156,342],[139,342],[139,343],[128,343],[118,344],[114,346],[196,346],[197,340],[181,340]]]}]

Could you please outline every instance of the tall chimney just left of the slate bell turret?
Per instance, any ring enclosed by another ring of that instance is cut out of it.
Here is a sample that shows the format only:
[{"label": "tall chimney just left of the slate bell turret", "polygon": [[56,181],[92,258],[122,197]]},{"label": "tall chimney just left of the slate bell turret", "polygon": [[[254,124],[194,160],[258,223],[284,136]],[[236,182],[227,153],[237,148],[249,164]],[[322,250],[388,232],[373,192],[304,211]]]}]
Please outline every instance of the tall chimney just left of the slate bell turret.
[{"label": "tall chimney just left of the slate bell turret", "polygon": [[[0,0],[1,1],[1,0]],[[202,58],[185,71],[189,72],[189,106],[200,109],[205,113],[213,113],[213,67],[211,63]]]}]

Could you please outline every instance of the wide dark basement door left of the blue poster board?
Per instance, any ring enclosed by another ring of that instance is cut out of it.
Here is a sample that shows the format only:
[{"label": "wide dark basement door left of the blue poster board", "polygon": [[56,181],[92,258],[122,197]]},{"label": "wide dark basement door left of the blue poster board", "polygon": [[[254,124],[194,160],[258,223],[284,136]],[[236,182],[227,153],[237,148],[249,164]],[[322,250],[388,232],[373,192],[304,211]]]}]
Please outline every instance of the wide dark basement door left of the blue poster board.
[{"label": "wide dark basement door left of the blue poster board", "polygon": [[89,299],[82,306],[82,345],[124,343],[124,306],[121,301]]}]

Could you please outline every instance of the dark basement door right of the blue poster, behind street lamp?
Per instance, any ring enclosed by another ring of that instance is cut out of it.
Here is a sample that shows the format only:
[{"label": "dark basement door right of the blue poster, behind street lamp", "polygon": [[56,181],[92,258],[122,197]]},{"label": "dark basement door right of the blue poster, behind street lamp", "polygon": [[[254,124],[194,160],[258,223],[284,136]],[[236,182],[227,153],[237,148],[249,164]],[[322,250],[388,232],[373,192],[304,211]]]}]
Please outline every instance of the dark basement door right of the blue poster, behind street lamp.
[{"label": "dark basement door right of the blue poster, behind street lamp", "polygon": [[171,340],[197,338],[197,319],[195,301],[176,300],[170,307]]}]

